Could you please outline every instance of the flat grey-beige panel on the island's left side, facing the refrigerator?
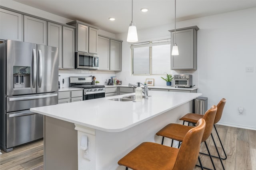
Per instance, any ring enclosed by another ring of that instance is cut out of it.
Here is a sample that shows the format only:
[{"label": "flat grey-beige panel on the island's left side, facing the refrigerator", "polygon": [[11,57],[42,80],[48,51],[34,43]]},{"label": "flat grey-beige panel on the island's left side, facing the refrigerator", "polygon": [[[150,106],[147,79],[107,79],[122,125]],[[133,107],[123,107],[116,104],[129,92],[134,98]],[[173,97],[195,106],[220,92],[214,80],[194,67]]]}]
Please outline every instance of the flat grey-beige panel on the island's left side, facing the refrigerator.
[{"label": "flat grey-beige panel on the island's left side, facing the refrigerator", "polygon": [[74,123],[44,116],[44,169],[77,170],[77,131]]}]

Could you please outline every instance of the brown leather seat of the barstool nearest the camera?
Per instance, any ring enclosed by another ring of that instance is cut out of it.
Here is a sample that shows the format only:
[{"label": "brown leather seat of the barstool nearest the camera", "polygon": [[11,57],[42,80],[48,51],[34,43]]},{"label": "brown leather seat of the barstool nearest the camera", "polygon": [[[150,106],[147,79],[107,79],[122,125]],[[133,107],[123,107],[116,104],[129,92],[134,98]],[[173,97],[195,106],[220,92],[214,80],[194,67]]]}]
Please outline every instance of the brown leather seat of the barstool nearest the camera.
[{"label": "brown leather seat of the barstool nearest the camera", "polygon": [[172,170],[178,152],[178,148],[143,142],[120,159],[118,164],[133,170]]}]

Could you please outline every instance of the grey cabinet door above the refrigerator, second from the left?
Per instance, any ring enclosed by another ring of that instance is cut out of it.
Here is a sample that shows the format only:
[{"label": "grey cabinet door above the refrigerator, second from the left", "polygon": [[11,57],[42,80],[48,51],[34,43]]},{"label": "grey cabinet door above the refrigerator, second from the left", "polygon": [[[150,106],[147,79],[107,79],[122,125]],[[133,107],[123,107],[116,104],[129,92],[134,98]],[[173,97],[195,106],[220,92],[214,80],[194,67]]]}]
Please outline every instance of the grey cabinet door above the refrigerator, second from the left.
[{"label": "grey cabinet door above the refrigerator, second from the left", "polygon": [[24,42],[46,45],[46,21],[24,16]]}]

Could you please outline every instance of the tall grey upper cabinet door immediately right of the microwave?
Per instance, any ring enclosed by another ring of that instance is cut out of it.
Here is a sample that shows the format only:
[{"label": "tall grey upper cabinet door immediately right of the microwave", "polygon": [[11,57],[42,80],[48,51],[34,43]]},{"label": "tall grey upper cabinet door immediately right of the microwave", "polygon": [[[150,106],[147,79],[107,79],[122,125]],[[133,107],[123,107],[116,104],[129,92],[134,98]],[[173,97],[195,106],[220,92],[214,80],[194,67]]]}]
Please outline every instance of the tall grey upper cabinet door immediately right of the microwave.
[{"label": "tall grey upper cabinet door immediately right of the microwave", "polygon": [[98,36],[98,55],[99,55],[99,69],[109,70],[109,50],[110,40],[102,36]]}]

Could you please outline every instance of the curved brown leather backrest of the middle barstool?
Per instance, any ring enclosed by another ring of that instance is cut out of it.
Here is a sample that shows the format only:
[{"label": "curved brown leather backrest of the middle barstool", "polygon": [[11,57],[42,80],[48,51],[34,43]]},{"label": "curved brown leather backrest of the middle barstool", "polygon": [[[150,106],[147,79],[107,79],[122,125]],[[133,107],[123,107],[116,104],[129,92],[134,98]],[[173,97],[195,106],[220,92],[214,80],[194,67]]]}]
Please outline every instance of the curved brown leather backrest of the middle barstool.
[{"label": "curved brown leather backrest of the middle barstool", "polygon": [[216,105],[212,105],[212,107],[208,111],[206,111],[206,113],[204,114],[203,119],[205,120],[205,130],[204,130],[202,142],[206,141],[206,139],[208,139],[208,137],[212,133],[212,127],[213,127],[214,119],[216,116],[216,112],[217,112]]}]

